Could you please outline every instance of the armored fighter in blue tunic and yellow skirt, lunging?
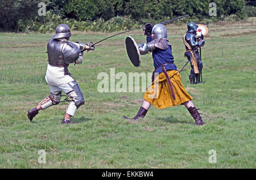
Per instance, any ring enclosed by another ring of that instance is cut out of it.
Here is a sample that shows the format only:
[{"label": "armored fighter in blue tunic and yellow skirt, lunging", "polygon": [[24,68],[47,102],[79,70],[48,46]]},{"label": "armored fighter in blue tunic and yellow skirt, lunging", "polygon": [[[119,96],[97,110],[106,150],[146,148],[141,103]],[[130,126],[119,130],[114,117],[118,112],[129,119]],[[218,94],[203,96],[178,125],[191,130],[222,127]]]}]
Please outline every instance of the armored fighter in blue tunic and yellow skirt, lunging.
[{"label": "armored fighter in blue tunic and yellow skirt, lunging", "polygon": [[155,24],[154,27],[146,25],[144,31],[144,35],[147,35],[147,43],[139,44],[138,50],[142,55],[152,52],[155,67],[152,84],[144,93],[143,104],[137,115],[134,118],[127,118],[126,116],[123,118],[133,120],[144,118],[151,104],[158,109],[182,104],[195,119],[195,125],[204,125],[198,109],[191,101],[192,97],[181,84],[181,76],[174,64],[174,56],[167,38],[166,27],[163,24]]}]

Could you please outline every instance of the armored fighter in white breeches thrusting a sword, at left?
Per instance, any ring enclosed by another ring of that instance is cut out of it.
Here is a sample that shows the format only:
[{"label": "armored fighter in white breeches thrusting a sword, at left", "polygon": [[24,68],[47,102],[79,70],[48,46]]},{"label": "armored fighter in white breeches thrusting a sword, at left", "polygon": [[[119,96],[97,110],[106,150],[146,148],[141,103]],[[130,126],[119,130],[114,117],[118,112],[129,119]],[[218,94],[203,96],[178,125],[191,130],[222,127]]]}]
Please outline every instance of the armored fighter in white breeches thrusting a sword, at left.
[{"label": "armored fighter in white breeches thrusting a sword, at left", "polygon": [[72,78],[68,66],[71,63],[82,63],[83,51],[94,50],[94,46],[91,46],[89,42],[87,44],[70,42],[68,41],[69,37],[71,37],[71,31],[68,25],[60,24],[56,28],[56,34],[51,37],[47,44],[46,82],[49,84],[50,95],[44,98],[34,109],[28,111],[27,117],[30,121],[38,114],[39,110],[59,104],[62,92],[67,94],[71,101],[69,101],[61,123],[71,123],[71,117],[85,103],[79,84]]}]

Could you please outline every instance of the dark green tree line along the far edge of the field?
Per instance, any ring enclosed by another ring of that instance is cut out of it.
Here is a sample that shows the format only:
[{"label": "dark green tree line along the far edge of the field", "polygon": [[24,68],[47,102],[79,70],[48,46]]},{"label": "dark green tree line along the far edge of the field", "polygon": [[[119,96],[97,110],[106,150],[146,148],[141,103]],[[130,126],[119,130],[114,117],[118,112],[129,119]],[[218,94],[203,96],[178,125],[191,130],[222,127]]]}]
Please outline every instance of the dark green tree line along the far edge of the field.
[{"label": "dark green tree line along the far edge of the field", "polygon": [[[112,23],[118,24],[121,23],[118,21],[126,19],[126,22],[131,24],[143,24],[188,14],[191,20],[209,23],[223,20],[230,15],[236,20],[244,19],[248,16],[246,5],[250,6],[250,15],[255,15],[255,2],[245,0],[0,0],[0,2],[0,30],[15,32],[26,29],[39,31],[56,17],[60,21],[70,23],[106,23],[112,20]],[[39,16],[40,2],[45,3],[48,17]],[[216,14],[210,14],[211,8]],[[122,26],[125,28],[125,25]],[[98,27],[102,28],[102,24]],[[114,28],[108,26],[105,31],[108,29]],[[100,30],[96,29],[96,31]]]}]

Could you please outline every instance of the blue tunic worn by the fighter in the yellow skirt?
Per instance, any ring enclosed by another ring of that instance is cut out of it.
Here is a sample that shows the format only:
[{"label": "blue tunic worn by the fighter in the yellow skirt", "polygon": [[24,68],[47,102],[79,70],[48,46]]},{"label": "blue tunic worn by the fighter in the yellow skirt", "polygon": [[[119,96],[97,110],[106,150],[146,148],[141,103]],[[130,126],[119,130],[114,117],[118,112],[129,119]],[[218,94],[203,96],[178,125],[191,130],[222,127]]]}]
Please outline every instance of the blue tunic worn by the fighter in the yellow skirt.
[{"label": "blue tunic worn by the fighter in the yellow skirt", "polygon": [[[152,37],[151,36],[147,36],[147,43],[152,41]],[[166,50],[162,50],[159,48],[156,48],[153,52],[152,52],[152,57],[154,59],[154,67],[158,67],[160,65],[163,65],[165,63],[171,63],[174,62],[174,56],[172,55],[172,47],[168,46],[168,48]],[[166,65],[166,70],[176,70],[177,68],[175,66],[175,64],[170,64],[170,65]],[[155,70],[155,72],[161,73],[162,71],[162,67],[159,67]]]}]

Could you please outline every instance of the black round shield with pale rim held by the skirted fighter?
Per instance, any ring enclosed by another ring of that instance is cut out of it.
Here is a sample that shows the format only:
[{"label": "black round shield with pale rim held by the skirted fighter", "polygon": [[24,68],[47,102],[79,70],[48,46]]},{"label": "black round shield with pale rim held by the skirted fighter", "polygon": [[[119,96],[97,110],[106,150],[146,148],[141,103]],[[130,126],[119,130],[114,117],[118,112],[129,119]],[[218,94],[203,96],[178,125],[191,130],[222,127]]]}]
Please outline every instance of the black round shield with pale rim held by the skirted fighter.
[{"label": "black round shield with pale rim held by the skirted fighter", "polygon": [[125,45],[131,63],[133,63],[133,65],[136,67],[141,65],[141,56],[139,53],[139,48],[134,39],[130,36],[126,37]]}]

